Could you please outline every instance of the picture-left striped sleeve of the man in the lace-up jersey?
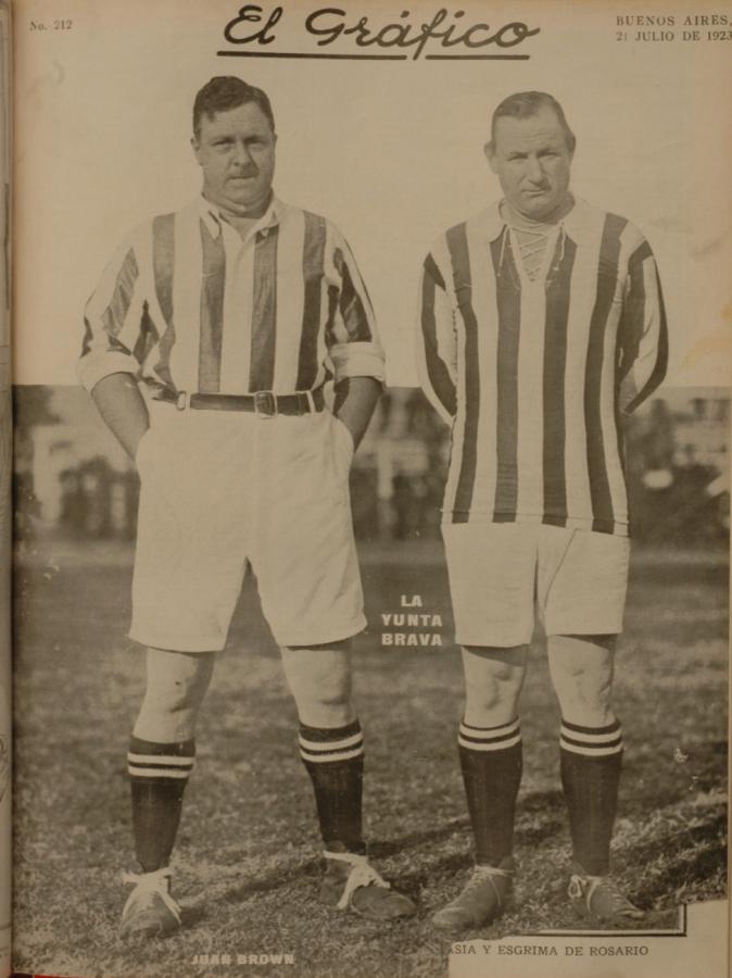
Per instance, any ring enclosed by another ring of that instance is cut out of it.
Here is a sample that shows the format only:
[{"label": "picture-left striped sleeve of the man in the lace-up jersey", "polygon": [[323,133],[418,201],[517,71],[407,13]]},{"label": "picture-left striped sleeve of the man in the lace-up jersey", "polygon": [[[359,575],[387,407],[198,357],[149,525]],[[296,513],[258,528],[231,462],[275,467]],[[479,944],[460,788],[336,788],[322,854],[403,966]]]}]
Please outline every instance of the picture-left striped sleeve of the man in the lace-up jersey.
[{"label": "picture-left striped sleeve of the man in the lace-up jersey", "polygon": [[419,383],[436,411],[452,424],[457,383],[455,319],[444,277],[431,253],[419,280],[416,333]]}]

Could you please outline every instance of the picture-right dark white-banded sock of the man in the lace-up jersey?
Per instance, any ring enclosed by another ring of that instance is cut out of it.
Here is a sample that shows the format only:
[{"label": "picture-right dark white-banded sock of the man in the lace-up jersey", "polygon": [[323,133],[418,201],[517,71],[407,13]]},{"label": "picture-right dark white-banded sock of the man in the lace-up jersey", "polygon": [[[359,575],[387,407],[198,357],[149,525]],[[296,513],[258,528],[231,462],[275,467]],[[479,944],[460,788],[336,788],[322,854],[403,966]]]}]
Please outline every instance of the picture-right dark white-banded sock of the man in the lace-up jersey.
[{"label": "picture-right dark white-banded sock of the man in the lace-up jersey", "polygon": [[616,719],[605,727],[580,727],[563,719],[559,743],[575,862],[591,876],[604,876],[610,867],[610,838],[618,806],[620,724]]}]

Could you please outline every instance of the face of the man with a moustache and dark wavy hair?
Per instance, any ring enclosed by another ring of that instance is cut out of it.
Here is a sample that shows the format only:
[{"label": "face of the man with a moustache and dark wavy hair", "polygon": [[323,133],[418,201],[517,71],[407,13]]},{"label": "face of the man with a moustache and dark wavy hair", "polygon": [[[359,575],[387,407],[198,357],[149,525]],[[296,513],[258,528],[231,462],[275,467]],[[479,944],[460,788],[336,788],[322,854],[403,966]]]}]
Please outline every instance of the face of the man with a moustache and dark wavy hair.
[{"label": "face of the man with a moustache and dark wavy hair", "polygon": [[191,145],[203,171],[207,200],[240,215],[258,216],[267,206],[275,174],[277,137],[255,102],[203,115]]}]

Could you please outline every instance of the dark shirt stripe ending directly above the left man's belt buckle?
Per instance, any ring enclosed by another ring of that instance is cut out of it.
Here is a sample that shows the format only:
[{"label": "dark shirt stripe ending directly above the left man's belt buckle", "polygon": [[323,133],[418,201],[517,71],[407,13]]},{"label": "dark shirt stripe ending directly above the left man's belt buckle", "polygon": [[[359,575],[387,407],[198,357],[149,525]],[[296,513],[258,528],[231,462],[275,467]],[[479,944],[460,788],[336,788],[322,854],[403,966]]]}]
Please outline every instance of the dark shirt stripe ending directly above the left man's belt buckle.
[{"label": "dark shirt stripe ending directly above the left man's belt buckle", "polygon": [[278,229],[260,231],[254,246],[252,296],[252,343],[249,389],[272,390],[275,381],[277,339],[277,241]]}]

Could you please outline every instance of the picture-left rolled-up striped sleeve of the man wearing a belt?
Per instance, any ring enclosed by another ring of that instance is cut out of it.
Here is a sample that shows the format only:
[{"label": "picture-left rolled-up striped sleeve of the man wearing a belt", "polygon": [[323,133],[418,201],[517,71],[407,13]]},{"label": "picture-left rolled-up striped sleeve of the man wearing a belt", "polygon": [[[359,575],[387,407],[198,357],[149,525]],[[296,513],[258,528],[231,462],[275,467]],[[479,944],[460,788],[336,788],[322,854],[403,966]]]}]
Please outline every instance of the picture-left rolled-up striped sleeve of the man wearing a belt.
[{"label": "picture-left rolled-up striped sleeve of the man wearing a belt", "polygon": [[91,390],[111,374],[139,375],[147,310],[135,236],[109,262],[84,311],[79,381]]}]

